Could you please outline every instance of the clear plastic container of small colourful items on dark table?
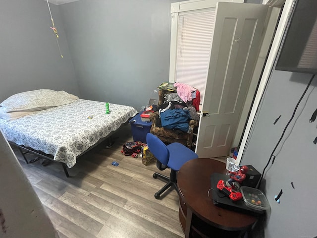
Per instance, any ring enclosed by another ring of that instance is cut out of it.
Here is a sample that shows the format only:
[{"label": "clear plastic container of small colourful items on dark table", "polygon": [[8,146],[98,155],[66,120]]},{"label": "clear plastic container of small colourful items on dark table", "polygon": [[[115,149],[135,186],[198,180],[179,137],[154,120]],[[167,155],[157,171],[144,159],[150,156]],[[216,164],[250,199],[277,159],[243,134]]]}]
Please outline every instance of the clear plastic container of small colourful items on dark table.
[{"label": "clear plastic container of small colourful items on dark table", "polygon": [[241,186],[240,191],[242,193],[245,204],[254,210],[269,210],[269,203],[262,191],[253,187]]}]

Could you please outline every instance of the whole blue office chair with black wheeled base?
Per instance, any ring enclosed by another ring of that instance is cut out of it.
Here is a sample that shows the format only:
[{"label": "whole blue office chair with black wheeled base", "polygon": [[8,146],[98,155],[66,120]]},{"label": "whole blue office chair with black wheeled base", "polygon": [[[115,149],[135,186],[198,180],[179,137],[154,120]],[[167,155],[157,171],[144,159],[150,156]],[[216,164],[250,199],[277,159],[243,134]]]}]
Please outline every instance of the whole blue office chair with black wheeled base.
[{"label": "whole blue office chair with black wheeled base", "polygon": [[157,136],[151,133],[147,134],[147,144],[151,153],[158,159],[157,167],[159,170],[162,171],[166,168],[170,168],[170,177],[159,173],[153,174],[154,179],[159,177],[167,181],[165,186],[154,194],[155,198],[159,199],[159,196],[170,186],[173,186],[179,195],[177,188],[177,172],[185,162],[198,158],[198,155],[178,142],[166,146]]}]

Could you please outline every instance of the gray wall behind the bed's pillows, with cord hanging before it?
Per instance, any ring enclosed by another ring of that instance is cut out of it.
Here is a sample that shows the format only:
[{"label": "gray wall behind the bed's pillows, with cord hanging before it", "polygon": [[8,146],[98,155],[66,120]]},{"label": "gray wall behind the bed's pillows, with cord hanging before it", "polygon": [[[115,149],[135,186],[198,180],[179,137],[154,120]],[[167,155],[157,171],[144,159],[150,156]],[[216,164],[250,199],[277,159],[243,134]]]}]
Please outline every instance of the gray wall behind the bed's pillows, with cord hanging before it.
[{"label": "gray wall behind the bed's pillows, with cord hanging before it", "polygon": [[12,94],[41,88],[79,96],[58,7],[51,10],[59,33],[57,48],[48,5],[44,0],[1,0],[0,102]]}]

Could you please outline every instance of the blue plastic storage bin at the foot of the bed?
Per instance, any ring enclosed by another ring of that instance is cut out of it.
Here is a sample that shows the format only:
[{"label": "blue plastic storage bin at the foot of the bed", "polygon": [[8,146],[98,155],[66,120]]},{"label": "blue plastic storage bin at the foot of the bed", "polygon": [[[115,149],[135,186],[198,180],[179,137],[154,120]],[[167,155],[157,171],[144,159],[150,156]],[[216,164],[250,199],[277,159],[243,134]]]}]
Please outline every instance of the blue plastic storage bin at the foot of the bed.
[{"label": "blue plastic storage bin at the foot of the bed", "polygon": [[147,133],[150,133],[152,121],[142,121],[141,114],[137,114],[131,120],[131,131],[134,141],[141,141],[147,143]]}]

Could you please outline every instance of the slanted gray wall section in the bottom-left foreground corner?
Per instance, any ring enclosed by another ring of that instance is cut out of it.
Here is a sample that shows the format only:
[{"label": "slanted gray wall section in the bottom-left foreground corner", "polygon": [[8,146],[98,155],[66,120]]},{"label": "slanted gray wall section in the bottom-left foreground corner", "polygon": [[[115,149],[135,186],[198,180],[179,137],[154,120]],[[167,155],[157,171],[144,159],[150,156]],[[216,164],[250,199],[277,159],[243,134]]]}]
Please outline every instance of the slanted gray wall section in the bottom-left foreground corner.
[{"label": "slanted gray wall section in the bottom-left foreground corner", "polygon": [[1,131],[0,188],[1,238],[58,237],[40,199]]}]

